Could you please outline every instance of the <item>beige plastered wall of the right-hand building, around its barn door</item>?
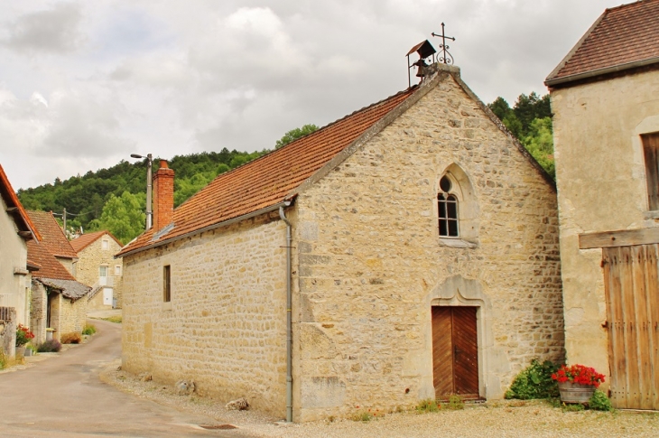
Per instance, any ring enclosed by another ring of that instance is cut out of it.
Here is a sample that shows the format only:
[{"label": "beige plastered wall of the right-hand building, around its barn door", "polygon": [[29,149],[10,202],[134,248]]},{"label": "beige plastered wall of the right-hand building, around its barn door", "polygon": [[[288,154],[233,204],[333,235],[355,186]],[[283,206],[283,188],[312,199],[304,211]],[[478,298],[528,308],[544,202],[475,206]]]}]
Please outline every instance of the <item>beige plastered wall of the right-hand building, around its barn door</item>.
[{"label": "beige plastered wall of the right-hand building, around its barn door", "polygon": [[602,250],[580,249],[579,235],[659,227],[659,212],[648,211],[641,143],[642,134],[659,132],[657,96],[657,70],[552,90],[565,349],[570,363],[605,374]]}]

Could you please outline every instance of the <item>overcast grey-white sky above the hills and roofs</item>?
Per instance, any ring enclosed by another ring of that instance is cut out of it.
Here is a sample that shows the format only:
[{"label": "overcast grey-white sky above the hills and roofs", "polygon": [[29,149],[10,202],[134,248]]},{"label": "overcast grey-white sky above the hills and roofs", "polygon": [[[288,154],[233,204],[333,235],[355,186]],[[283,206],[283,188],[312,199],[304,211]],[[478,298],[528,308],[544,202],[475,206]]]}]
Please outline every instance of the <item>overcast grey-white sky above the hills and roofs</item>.
[{"label": "overcast grey-white sky above the hills and roofs", "polygon": [[615,0],[94,0],[0,5],[0,163],[14,189],[135,161],[272,148],[407,87],[456,37],[488,103],[543,79]]}]

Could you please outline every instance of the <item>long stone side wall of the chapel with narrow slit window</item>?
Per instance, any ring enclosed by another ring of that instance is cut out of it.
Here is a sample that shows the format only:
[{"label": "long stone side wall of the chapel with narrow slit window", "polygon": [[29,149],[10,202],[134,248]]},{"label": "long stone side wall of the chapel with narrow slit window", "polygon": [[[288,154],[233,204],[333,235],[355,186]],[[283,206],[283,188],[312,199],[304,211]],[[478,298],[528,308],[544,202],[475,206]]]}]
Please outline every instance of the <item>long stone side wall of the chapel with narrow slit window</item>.
[{"label": "long stone side wall of the chapel with narrow slit window", "polygon": [[[285,411],[285,228],[276,212],[125,256],[123,366]],[[162,301],[163,266],[172,301]]]}]

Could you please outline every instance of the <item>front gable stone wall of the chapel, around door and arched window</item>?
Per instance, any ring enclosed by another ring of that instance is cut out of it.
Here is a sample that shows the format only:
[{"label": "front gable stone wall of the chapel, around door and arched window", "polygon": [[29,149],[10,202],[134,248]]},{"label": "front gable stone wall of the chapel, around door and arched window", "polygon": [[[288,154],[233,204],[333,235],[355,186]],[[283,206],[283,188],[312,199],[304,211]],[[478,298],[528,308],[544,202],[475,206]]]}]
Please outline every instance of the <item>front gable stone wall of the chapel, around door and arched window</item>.
[{"label": "front gable stone wall of the chapel, around door and arched window", "polygon": [[[439,238],[451,164],[472,185],[462,188],[476,204],[471,242]],[[433,397],[438,303],[482,304],[481,396],[503,397],[531,359],[563,358],[556,192],[452,77],[303,191],[296,210],[296,421]]]}]

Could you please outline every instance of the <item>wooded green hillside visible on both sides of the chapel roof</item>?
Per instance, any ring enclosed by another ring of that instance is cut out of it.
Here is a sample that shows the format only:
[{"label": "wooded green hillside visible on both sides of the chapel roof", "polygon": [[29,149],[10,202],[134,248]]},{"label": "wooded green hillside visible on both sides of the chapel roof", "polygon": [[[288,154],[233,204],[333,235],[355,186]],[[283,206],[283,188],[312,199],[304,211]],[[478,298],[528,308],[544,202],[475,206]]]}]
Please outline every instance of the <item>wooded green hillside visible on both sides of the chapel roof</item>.
[{"label": "wooded green hillside visible on both sides of the chapel roof", "polygon": [[[552,119],[549,95],[540,98],[535,93],[520,95],[513,107],[504,98],[497,98],[488,107],[517,136],[526,149],[554,174]],[[318,129],[305,125],[292,129],[276,142],[275,148]],[[218,174],[266,154],[267,149],[252,154],[228,151],[201,154],[176,155],[168,160],[176,172],[174,180],[174,205],[178,206]],[[167,159],[167,157],[162,157]],[[153,171],[158,158],[153,159]],[[109,169],[87,172],[84,176],[66,181],[56,179],[53,184],[18,191],[23,206],[28,210],[52,210],[61,215],[67,211],[67,230],[73,233],[83,228],[85,232],[108,229],[116,238],[127,243],[144,230],[146,204],[146,163],[122,161]]]}]

